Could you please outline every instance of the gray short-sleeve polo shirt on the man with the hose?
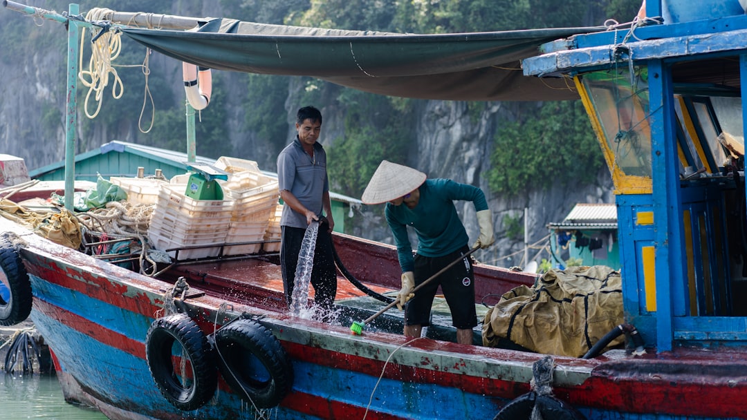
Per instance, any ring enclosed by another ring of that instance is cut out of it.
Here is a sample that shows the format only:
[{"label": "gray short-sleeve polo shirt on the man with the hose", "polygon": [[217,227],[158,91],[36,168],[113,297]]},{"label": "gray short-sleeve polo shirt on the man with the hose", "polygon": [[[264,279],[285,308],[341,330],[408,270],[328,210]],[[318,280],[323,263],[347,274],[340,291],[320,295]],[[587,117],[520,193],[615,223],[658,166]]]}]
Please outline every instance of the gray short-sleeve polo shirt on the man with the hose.
[{"label": "gray short-sleeve polo shirt on the man with the hose", "polygon": [[[326,173],[326,153],[319,142],[314,143],[314,158],[303,151],[296,140],[285,146],[278,155],[278,187],[288,189],[304,207],[317,216],[322,214],[322,194],[329,191]],[[306,216],[284,206],[281,226],[306,229]]]}]

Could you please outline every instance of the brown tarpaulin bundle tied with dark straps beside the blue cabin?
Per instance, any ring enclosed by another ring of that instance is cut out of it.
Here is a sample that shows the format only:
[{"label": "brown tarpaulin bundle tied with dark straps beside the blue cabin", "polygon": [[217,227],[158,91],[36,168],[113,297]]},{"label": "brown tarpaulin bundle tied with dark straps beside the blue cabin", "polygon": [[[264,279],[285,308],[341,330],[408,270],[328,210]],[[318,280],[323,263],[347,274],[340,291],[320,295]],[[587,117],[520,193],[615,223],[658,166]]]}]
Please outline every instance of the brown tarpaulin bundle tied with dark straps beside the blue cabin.
[{"label": "brown tarpaulin bundle tied with dark straps beside the blue cabin", "polygon": [[[488,310],[483,345],[501,339],[530,351],[582,357],[624,322],[620,272],[607,266],[551,269],[535,286],[518,286]],[[624,336],[605,350],[619,346]]]}]

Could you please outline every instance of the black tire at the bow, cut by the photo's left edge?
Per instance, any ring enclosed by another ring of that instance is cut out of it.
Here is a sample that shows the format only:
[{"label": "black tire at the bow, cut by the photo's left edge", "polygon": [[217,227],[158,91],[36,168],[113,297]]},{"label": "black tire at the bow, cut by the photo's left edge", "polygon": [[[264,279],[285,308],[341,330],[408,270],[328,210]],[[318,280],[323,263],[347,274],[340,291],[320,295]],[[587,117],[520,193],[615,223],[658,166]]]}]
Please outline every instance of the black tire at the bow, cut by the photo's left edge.
[{"label": "black tire at the bow, cut by the photo's left edge", "polygon": [[0,237],[0,325],[16,325],[31,313],[31,281],[16,248]]}]

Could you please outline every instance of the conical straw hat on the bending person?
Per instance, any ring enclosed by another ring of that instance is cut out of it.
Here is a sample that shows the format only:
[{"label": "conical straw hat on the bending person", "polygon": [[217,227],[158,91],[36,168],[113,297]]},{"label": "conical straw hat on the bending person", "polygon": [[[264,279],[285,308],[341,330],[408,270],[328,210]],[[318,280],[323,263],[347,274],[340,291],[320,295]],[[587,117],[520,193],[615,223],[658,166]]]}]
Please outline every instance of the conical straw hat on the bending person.
[{"label": "conical straw hat on the bending person", "polygon": [[425,182],[425,174],[417,169],[398,163],[382,160],[379,168],[368,181],[361,201],[363,204],[382,204],[400,198],[420,187]]}]

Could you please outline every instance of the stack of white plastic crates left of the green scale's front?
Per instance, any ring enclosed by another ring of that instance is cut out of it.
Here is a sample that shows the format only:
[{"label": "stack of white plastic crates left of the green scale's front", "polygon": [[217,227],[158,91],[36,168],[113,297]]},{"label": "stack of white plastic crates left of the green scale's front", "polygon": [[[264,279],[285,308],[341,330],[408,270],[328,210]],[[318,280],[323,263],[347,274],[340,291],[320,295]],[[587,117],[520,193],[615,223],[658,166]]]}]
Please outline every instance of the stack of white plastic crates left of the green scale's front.
[{"label": "stack of white plastic crates left of the green scale's front", "polygon": [[163,184],[148,229],[153,248],[166,251],[204,245],[200,248],[167,251],[177,260],[217,257],[229,233],[235,201],[196,200],[185,195],[184,184]]}]

